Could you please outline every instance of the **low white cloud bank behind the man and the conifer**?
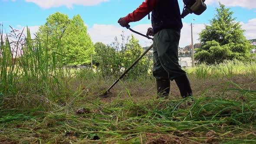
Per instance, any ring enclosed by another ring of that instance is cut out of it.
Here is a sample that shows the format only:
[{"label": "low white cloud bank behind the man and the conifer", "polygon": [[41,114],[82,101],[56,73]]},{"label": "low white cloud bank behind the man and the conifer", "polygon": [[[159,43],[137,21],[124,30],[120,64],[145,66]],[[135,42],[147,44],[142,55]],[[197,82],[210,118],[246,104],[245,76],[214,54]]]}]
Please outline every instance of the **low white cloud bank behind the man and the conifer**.
[{"label": "low white cloud bank behind the man and the conifer", "polygon": [[[244,35],[246,39],[256,39],[256,18],[249,20],[248,23],[241,23],[242,29],[245,29]],[[148,27],[151,27],[151,24],[137,25],[132,27],[132,29],[140,32],[146,33]],[[202,29],[205,28],[204,24],[194,24],[193,25],[193,38],[194,43],[199,43],[199,33]],[[126,28],[115,25],[97,25],[95,24],[92,28],[88,29],[88,32],[94,43],[102,42],[105,44],[111,44],[114,41],[115,36],[118,37],[118,41],[121,42],[121,34],[124,30],[126,36],[133,34],[135,38],[139,39],[141,46],[150,46],[152,40],[139,36],[135,33],[132,33]],[[184,47],[191,44],[191,26],[190,23],[183,23],[183,28],[181,29],[181,39],[180,47]]]}]

